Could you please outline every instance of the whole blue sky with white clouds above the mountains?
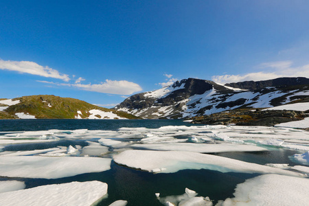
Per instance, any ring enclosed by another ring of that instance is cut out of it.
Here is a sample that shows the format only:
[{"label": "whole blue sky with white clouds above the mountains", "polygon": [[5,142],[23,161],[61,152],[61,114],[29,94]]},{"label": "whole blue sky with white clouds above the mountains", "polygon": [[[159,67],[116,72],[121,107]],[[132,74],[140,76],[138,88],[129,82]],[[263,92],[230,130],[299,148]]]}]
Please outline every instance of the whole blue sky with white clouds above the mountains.
[{"label": "whole blue sky with white clouds above the mountains", "polygon": [[176,80],[309,78],[308,0],[0,0],[0,98],[111,108]]}]

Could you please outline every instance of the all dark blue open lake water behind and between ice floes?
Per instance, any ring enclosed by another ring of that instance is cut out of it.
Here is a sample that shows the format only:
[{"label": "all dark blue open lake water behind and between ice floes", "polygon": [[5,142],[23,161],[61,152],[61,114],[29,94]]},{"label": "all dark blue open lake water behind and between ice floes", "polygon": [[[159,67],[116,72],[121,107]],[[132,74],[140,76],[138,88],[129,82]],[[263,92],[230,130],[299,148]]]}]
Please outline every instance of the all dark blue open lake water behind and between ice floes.
[{"label": "all dark blue open lake water behind and between ice floes", "polygon": [[[90,119],[13,119],[0,120],[0,132],[33,131],[33,130],[117,130],[122,127],[159,128],[161,126],[190,126],[180,120],[90,120]],[[51,143],[15,144],[6,146],[4,150],[37,150],[54,148],[56,146],[87,146],[85,139],[62,139]],[[214,153],[222,157],[239,159],[252,163],[290,163],[288,155],[295,154],[290,150],[272,150],[266,152],[221,152]],[[108,198],[99,205],[109,205],[117,200],[128,201],[128,206],[161,205],[155,193],[161,196],[181,195],[185,187],[198,192],[198,196],[209,196],[214,205],[219,200],[232,198],[234,189],[239,183],[260,174],[245,174],[228,172],[222,173],[213,170],[181,170],[172,174],[152,174],[117,165],[112,162],[111,170],[80,174],[61,179],[24,179],[10,178],[10,180],[25,181],[27,188],[40,185],[69,183],[72,181],[102,181],[108,184]],[[9,178],[0,177],[0,181]]]}]

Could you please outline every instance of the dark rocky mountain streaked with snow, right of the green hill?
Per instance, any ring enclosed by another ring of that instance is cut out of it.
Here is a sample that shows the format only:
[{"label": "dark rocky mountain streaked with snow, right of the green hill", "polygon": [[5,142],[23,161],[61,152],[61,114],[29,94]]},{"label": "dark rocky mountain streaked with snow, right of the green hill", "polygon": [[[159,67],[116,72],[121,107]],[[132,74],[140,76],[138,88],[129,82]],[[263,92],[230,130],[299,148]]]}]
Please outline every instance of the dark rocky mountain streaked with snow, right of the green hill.
[{"label": "dark rocky mountain streaked with snow, right of the green hill", "polygon": [[225,85],[188,78],[156,91],[132,95],[115,109],[145,119],[179,119],[235,108],[267,108],[306,100],[309,100],[308,78],[277,78]]}]

